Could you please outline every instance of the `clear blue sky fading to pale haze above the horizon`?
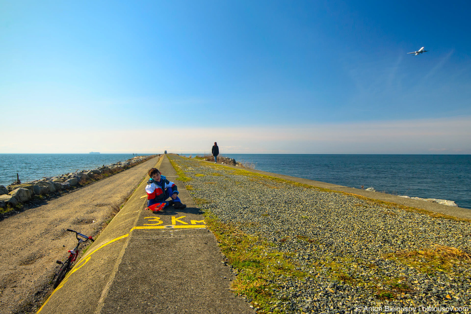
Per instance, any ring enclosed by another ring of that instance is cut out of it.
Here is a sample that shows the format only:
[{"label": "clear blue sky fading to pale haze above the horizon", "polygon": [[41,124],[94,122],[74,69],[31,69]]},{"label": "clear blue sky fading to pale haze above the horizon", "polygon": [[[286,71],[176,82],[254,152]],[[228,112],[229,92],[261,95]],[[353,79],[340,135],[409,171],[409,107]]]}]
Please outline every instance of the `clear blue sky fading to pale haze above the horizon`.
[{"label": "clear blue sky fading to pale haze above the horizon", "polygon": [[0,153],[471,154],[470,14],[0,0]]}]

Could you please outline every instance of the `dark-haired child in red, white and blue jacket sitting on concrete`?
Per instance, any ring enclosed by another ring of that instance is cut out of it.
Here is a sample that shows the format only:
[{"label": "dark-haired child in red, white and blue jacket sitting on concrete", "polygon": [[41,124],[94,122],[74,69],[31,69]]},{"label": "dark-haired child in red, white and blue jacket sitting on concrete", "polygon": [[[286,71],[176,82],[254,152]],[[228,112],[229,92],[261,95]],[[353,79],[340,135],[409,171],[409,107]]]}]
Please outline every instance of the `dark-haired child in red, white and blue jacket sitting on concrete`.
[{"label": "dark-haired child in red, white and blue jacket sitting on concrete", "polygon": [[[178,197],[177,185],[175,183],[161,176],[157,168],[151,168],[148,174],[151,177],[146,186],[148,209],[159,211],[172,205],[175,209],[184,209],[186,207]],[[166,201],[169,197],[171,200]]]}]

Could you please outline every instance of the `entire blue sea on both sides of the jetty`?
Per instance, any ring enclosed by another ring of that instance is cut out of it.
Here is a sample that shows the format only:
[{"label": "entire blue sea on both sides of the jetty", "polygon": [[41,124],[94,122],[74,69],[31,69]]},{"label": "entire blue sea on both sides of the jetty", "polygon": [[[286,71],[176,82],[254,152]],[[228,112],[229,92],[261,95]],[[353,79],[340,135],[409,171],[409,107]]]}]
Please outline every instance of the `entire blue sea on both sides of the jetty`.
[{"label": "entire blue sea on both sides of the jetty", "polygon": [[[151,154],[140,154],[151,155]],[[195,154],[181,154],[193,157]],[[471,209],[471,155],[222,154],[255,169],[394,195],[438,198]],[[0,184],[125,161],[132,154],[0,154]]]}]

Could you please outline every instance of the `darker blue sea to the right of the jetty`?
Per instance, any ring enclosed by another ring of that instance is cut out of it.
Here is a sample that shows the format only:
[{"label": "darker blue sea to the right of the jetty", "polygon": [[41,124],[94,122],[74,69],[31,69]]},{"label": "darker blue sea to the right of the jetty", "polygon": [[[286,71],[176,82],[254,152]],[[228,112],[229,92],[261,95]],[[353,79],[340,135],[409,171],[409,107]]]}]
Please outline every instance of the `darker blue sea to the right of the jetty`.
[{"label": "darker blue sea to the right of the jetty", "polygon": [[374,187],[394,195],[445,199],[471,209],[471,155],[220,156],[252,163],[257,170],[355,188]]}]

